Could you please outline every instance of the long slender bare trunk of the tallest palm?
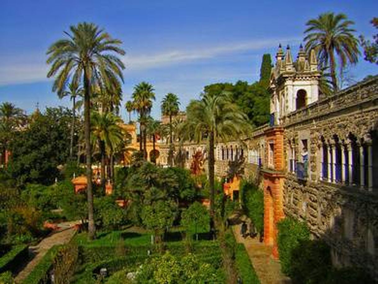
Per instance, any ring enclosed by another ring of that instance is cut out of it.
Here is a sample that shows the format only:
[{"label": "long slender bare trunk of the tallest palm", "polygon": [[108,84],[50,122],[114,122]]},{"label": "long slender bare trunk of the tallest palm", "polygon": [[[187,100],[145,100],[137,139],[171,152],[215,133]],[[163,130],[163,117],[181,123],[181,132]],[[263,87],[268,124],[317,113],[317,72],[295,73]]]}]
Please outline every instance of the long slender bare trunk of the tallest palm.
[{"label": "long slender bare trunk of the tallest palm", "polygon": [[88,200],[88,238],[95,239],[96,228],[93,216],[93,191],[92,191],[92,161],[91,161],[91,133],[90,133],[90,76],[87,68],[84,68],[84,137],[87,172],[87,200]]}]

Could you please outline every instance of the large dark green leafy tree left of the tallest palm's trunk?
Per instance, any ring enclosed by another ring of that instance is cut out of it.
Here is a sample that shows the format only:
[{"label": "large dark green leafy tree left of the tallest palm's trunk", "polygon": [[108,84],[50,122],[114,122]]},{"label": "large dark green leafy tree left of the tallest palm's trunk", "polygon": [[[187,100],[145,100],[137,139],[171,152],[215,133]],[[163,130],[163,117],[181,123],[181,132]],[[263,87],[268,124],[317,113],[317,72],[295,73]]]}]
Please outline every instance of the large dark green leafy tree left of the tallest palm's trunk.
[{"label": "large dark green leafy tree left of the tallest palm's trunk", "polygon": [[57,166],[69,156],[71,118],[68,109],[47,108],[14,134],[8,171],[19,186],[27,182],[49,185],[59,177]]}]

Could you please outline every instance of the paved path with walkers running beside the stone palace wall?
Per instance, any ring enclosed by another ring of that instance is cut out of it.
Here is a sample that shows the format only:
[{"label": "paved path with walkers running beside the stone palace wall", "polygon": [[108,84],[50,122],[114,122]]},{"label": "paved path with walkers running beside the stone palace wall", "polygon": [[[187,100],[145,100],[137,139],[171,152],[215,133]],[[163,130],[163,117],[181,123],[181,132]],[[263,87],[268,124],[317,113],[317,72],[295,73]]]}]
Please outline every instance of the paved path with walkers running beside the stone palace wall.
[{"label": "paved path with walkers running beside the stone palace wall", "polygon": [[240,235],[241,224],[232,226],[237,242],[244,244],[261,284],[290,284],[291,280],[281,272],[279,261],[271,258],[271,247],[259,242],[259,238]]}]

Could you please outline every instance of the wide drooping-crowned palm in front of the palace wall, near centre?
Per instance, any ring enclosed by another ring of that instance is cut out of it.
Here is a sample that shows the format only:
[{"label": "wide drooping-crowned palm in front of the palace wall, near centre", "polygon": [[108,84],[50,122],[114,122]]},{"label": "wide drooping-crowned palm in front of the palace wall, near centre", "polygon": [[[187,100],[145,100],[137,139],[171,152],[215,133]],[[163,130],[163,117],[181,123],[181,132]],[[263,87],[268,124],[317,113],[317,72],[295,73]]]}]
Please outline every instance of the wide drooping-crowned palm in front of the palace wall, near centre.
[{"label": "wide drooping-crowned palm in front of the palace wall, near centre", "polygon": [[186,120],[178,132],[184,140],[207,140],[208,170],[210,186],[210,208],[214,216],[214,145],[217,140],[227,141],[229,137],[240,137],[250,129],[248,117],[231,102],[225,93],[205,93],[201,100],[191,101],[186,108]]}]

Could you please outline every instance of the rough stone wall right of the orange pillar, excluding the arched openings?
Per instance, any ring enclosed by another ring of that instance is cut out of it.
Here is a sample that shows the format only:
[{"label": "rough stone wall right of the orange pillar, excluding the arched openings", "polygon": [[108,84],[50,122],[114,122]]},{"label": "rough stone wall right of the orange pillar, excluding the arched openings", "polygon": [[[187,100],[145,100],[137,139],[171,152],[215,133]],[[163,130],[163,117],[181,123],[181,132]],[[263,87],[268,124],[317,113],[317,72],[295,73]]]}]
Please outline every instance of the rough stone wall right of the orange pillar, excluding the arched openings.
[{"label": "rough stone wall right of the orange pillar, excluding the arched openings", "polygon": [[[378,189],[369,192],[356,185],[320,180],[322,145],[334,145],[337,141],[346,147],[350,137],[364,145],[376,135],[378,78],[290,113],[283,118],[283,127],[287,161],[283,185],[285,215],[307,222],[315,238],[325,239],[332,247],[335,265],[364,267],[378,279]],[[302,139],[307,139],[309,146],[307,180],[299,180],[288,170],[290,147],[294,147],[296,158],[300,159]],[[372,159],[373,163],[378,162]]]}]

